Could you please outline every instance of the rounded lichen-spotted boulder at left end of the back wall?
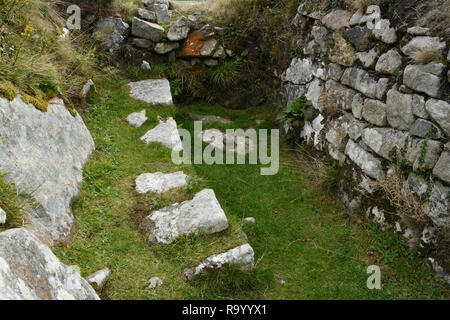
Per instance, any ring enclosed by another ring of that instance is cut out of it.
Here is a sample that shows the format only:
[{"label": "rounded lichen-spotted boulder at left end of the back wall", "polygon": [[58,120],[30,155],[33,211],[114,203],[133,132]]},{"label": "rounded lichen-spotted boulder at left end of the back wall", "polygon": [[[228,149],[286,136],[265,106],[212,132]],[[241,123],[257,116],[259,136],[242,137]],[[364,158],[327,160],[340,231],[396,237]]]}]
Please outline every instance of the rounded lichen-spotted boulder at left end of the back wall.
[{"label": "rounded lichen-spotted boulder at left end of the back wall", "polygon": [[130,26],[117,17],[104,18],[97,24],[97,34],[110,52],[120,49],[129,29]]}]

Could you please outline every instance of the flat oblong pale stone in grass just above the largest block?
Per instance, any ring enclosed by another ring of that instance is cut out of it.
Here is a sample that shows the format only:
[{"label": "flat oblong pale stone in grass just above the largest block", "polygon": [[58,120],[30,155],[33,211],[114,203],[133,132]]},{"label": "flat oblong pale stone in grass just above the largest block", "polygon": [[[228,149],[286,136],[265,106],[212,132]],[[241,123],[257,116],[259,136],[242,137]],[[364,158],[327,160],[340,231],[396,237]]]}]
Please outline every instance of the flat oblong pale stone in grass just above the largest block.
[{"label": "flat oblong pale stone in grass just above the largest block", "polygon": [[188,176],[182,171],[143,173],[136,179],[136,192],[161,194],[173,188],[186,186],[187,180]]}]

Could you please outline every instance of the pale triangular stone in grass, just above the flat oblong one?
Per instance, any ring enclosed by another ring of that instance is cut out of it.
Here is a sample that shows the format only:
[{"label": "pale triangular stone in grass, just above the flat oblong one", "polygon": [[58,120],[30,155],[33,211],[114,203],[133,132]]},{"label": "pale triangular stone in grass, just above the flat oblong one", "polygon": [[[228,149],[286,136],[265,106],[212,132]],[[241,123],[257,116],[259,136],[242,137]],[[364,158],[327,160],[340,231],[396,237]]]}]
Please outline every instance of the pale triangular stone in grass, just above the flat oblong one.
[{"label": "pale triangular stone in grass, just above the flat oblong one", "polygon": [[183,144],[178,133],[177,123],[172,118],[165,121],[163,119],[159,119],[159,124],[153,129],[147,131],[141,137],[141,141],[146,144],[159,142],[173,151],[183,150]]}]

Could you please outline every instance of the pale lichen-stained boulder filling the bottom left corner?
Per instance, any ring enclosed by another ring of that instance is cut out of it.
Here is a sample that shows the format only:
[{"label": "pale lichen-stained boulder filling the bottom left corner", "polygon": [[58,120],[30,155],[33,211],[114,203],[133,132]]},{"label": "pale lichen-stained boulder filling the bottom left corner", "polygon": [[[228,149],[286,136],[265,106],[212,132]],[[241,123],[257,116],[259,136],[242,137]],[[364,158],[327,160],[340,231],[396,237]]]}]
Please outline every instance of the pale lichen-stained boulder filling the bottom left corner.
[{"label": "pale lichen-stained boulder filling the bottom left corner", "polygon": [[94,289],[30,231],[0,233],[0,300],[99,300]]}]

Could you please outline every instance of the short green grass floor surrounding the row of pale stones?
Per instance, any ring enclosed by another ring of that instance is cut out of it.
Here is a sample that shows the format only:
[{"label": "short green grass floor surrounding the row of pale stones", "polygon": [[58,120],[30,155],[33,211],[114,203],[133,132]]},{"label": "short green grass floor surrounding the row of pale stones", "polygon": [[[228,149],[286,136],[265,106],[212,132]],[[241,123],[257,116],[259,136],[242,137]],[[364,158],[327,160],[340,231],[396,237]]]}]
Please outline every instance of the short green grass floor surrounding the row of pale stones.
[{"label": "short green grass floor surrounding the row of pale stones", "polygon": [[[318,194],[314,181],[289,166],[282,152],[275,176],[261,176],[257,165],[176,166],[170,151],[140,140],[157,124],[156,117],[173,116],[192,129],[187,112],[221,115],[248,127],[263,110],[227,111],[219,107],[149,107],[128,96],[121,75],[96,81],[97,94],[83,113],[97,150],[84,170],[80,199],[74,204],[77,231],[55,253],[82,275],[109,267],[112,275],[102,296],[109,299],[380,299],[448,298],[414,252],[369,225],[357,225],[328,196]],[[139,129],[126,123],[128,114],[147,110]],[[222,128],[223,129],[223,128]],[[144,172],[183,170],[192,179],[184,189],[141,196],[134,191]],[[191,199],[201,189],[214,189],[230,222],[225,232],[189,236],[171,245],[149,246],[139,233],[139,221],[152,210]],[[243,224],[243,217],[256,224]],[[245,231],[245,233],[243,232]],[[247,239],[248,237],[248,239]],[[249,242],[256,252],[253,272],[235,268],[186,282],[183,269],[207,256]],[[368,290],[366,268],[382,270],[383,290]],[[164,285],[146,291],[157,276]],[[286,284],[279,284],[283,279]]]}]

